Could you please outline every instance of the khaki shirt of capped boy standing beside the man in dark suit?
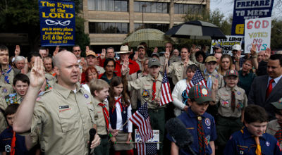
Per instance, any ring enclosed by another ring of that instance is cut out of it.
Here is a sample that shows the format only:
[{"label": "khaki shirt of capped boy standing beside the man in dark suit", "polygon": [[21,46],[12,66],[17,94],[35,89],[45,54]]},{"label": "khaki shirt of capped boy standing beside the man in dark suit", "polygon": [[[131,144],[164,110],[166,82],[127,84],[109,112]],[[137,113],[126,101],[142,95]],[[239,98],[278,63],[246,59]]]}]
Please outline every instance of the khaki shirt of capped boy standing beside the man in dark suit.
[{"label": "khaki shirt of capped boy standing beside the man in dark suit", "polygon": [[216,93],[216,103],[219,103],[219,114],[223,117],[240,118],[242,110],[247,106],[245,90],[235,86],[235,111],[231,108],[231,87],[223,87]]}]

